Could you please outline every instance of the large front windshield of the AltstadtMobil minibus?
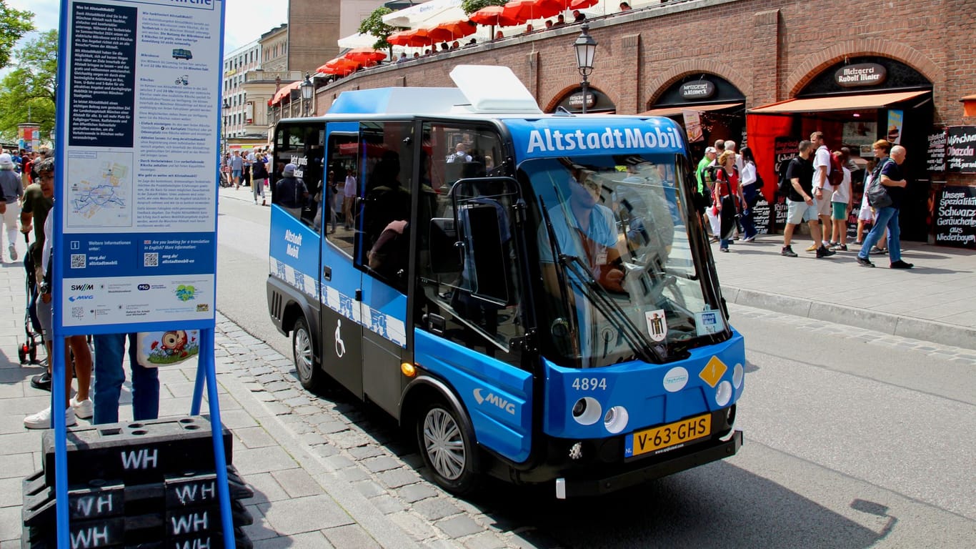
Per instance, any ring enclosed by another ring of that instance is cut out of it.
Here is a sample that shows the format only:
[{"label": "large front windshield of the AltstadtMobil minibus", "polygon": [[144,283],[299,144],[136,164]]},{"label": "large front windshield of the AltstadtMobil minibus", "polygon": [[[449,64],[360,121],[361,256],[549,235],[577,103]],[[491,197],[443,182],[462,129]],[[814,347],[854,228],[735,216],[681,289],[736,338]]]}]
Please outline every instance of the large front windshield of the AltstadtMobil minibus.
[{"label": "large front windshield of the AltstadtMobil minibus", "polygon": [[[544,351],[561,365],[662,362],[724,332],[692,242],[704,242],[676,157],[527,160],[542,269]],[[707,268],[706,268],[707,269]]]}]

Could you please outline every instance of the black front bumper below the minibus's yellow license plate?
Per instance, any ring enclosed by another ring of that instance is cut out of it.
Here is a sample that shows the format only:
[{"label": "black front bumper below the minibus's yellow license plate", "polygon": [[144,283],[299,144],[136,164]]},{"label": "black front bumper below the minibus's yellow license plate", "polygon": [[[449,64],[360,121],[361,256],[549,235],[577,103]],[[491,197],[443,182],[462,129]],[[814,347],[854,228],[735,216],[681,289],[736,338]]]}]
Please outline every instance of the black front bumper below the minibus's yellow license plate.
[{"label": "black front bumper below the minibus's yellow license plate", "polygon": [[565,479],[565,497],[602,495],[630,486],[637,486],[654,479],[680,473],[687,469],[705,465],[735,455],[742,447],[742,431],[734,431],[726,442],[714,443],[707,448],[685,455],[675,456],[667,461],[656,461],[647,467],[633,469],[626,473],[603,478]]}]

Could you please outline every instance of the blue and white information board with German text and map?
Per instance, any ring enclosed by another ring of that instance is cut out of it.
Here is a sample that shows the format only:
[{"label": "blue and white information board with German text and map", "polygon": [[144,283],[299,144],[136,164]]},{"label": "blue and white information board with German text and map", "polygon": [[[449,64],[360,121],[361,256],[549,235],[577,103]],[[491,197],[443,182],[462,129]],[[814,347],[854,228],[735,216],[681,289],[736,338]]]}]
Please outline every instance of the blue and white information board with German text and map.
[{"label": "blue and white information board with German text and map", "polygon": [[223,4],[62,4],[61,335],[214,326]]}]

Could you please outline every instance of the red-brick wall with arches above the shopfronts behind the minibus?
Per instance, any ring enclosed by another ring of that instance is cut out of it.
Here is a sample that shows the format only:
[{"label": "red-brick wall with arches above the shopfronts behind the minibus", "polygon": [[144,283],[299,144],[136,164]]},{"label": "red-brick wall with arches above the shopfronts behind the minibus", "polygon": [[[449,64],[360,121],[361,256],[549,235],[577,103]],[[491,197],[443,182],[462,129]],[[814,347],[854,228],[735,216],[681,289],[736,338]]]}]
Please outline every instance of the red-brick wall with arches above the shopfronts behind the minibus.
[{"label": "red-brick wall with arches above the shopfronts behind the minibus", "polygon": [[[922,134],[946,126],[976,126],[976,116],[965,116],[960,103],[970,96],[974,105],[966,105],[976,113],[976,2],[972,0],[684,0],[588,22],[599,44],[590,85],[620,114],[653,108],[669,86],[694,74],[712,74],[738,88],[745,96],[742,112],[796,98],[807,93],[816,79],[822,82],[826,71],[838,63],[870,58],[907,66],[925,81],[925,96],[919,98],[928,100],[921,101],[926,104],[924,112],[910,116],[906,110],[905,115],[905,132],[914,141],[903,142],[919,165],[926,154]],[[572,49],[579,33],[579,25],[568,24],[360,71],[321,85],[314,109],[325,113],[346,90],[453,86],[449,72],[457,64],[504,64],[540,106],[551,110],[579,86]],[[864,89],[866,94],[876,91]],[[917,102],[911,103],[894,107],[913,107]],[[878,126],[887,123],[881,120],[885,112],[877,111]],[[802,118],[802,124],[797,119],[793,125],[795,137],[810,127],[812,116]],[[834,120],[834,124],[839,128],[842,122]],[[915,176],[940,184],[976,186],[974,174]],[[764,179],[768,183],[770,178]]]}]

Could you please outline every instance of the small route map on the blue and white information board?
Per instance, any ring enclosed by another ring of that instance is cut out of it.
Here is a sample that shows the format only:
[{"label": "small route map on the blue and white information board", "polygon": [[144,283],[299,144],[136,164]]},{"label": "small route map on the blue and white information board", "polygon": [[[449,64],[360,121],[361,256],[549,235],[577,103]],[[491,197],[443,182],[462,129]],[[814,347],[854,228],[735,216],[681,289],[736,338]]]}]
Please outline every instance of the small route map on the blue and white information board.
[{"label": "small route map on the blue and white information board", "polygon": [[132,227],[132,157],[98,152],[91,159],[71,159],[68,227]]}]

